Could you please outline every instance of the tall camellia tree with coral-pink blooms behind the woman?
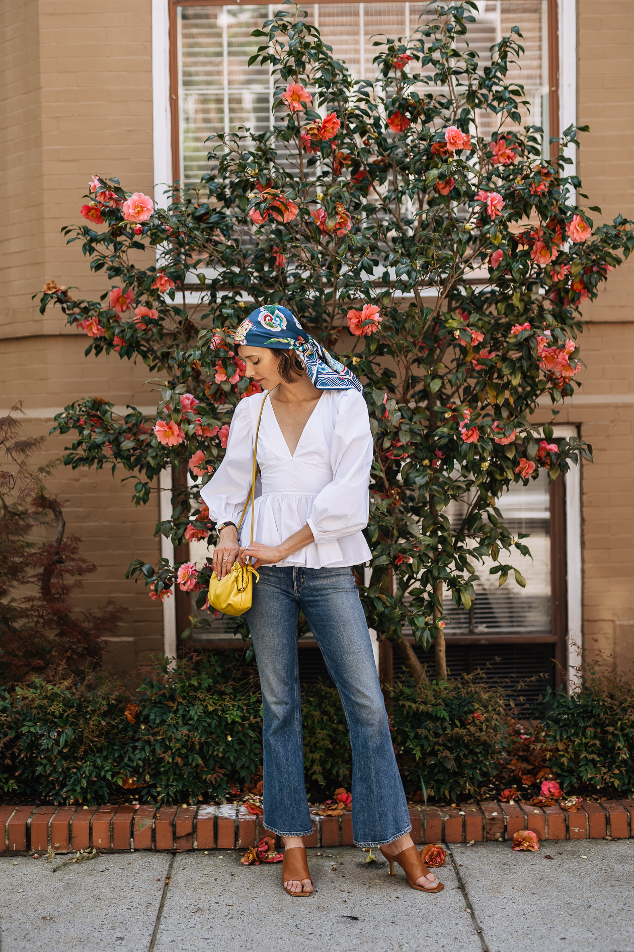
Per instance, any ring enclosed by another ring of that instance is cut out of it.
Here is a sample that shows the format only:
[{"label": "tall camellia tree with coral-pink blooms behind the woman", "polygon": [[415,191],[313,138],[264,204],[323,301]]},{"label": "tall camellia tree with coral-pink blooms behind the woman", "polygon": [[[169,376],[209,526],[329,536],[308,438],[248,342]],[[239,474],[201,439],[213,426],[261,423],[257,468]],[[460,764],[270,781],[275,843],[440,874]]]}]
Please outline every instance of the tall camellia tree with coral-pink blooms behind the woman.
[{"label": "tall camellia tree with coral-pink blooms behind the woman", "polygon": [[[631,222],[595,228],[575,203],[566,150],[577,129],[547,159],[542,129],[523,125],[528,104],[509,77],[519,30],[478,64],[466,40],[475,7],[438,4],[407,40],[385,38],[373,83],[354,80],[285,5],[256,31],[251,58],[275,77],[273,129],[212,136],[201,186],[173,191],[164,210],[94,177],[86,224],[67,235],[110,289],[73,300],[53,283],[42,298],[91,338],[86,354],[141,359],[157,381],[156,418],[134,407],[118,417],[88,398],[55,428],[75,431],[67,465],[136,474],[138,503],[163,467],[188,470],[192,485],[181,478],[172,519],[157,528],[175,544],[211,542],[200,488],[233,408],[258,389],[231,329],[280,303],[336,349],[364,383],[375,436],[361,598],[418,679],[405,625],[418,645],[435,642],[446,677],[443,592],[468,609],[490,559],[500,585],[512,574],[525,584],[509,559],[528,549],[503,524],[502,492],[591,458],[580,440],[552,442],[531,414],[574,392],[580,306],[634,245]],[[139,267],[134,252],[148,248],[157,265]],[[154,599],[175,585],[199,591],[202,607],[211,570],[162,560],[129,573]]]}]

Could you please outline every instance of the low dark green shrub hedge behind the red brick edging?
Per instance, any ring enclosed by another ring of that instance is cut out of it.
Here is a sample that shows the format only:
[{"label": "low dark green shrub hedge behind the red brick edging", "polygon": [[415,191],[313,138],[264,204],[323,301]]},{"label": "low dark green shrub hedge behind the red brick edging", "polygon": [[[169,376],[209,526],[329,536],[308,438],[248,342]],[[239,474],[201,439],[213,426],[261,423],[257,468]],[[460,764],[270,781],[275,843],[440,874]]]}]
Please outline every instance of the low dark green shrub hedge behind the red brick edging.
[{"label": "low dark green shrub hedge behind the red brick edging", "polygon": [[[408,795],[424,789],[430,799],[457,800],[514,783],[509,713],[504,690],[474,675],[395,684],[390,723]],[[305,689],[302,721],[312,799],[349,788],[352,754],[336,690]],[[567,793],[632,793],[631,682],[588,671],[573,697],[547,692],[541,722],[535,745]],[[81,680],[64,671],[53,681],[0,690],[6,800],[218,801],[252,783],[260,765],[257,671],[233,653],[184,659],[173,670],[157,661],[133,694],[99,673]]]}]

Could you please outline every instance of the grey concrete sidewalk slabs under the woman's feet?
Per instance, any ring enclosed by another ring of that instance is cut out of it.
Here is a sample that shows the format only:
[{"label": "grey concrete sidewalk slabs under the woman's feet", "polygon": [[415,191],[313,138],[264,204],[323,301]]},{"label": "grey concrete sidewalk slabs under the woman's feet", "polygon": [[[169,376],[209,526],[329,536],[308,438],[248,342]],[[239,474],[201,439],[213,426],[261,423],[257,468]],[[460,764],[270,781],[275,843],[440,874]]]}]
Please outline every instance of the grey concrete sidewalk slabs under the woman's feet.
[{"label": "grey concrete sidewalk slabs under the woman's feet", "polygon": [[435,896],[355,847],[311,849],[310,900],[282,891],[281,863],[230,851],[106,854],[55,873],[3,857],[0,950],[634,952],[634,840],[451,849]]}]

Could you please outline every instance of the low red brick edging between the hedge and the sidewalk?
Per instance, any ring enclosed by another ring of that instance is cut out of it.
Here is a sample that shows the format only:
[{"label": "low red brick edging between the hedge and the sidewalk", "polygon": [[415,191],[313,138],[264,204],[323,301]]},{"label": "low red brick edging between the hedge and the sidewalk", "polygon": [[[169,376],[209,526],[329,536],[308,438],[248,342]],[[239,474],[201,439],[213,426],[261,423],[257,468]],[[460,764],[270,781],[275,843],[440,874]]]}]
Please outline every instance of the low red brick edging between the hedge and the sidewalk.
[{"label": "low red brick edging between the hedge and the sidewalk", "polygon": [[[584,800],[578,811],[530,803],[461,803],[460,808],[411,807],[414,843],[512,840],[529,829],[540,840],[624,840],[634,836],[634,801]],[[352,815],[312,814],[307,846],[352,846]],[[0,806],[0,854],[246,849],[272,836],[260,817],[234,803],[203,806]],[[279,842],[279,838],[277,838]]]}]

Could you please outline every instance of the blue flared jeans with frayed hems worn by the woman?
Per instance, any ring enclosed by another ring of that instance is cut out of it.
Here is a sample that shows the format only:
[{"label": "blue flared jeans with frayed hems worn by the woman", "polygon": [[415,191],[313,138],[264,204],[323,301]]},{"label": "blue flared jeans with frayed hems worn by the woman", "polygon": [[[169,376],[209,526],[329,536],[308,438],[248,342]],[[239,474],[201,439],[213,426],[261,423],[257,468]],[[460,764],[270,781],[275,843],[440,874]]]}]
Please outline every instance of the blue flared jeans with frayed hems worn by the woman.
[{"label": "blue flared jeans with frayed hems worn by the woman", "polygon": [[350,568],[259,569],[247,618],[262,688],[264,825],[280,836],[313,832],[304,785],[299,608],[336,684],[350,730],[355,843],[392,843],[412,827],[368,625]]}]

